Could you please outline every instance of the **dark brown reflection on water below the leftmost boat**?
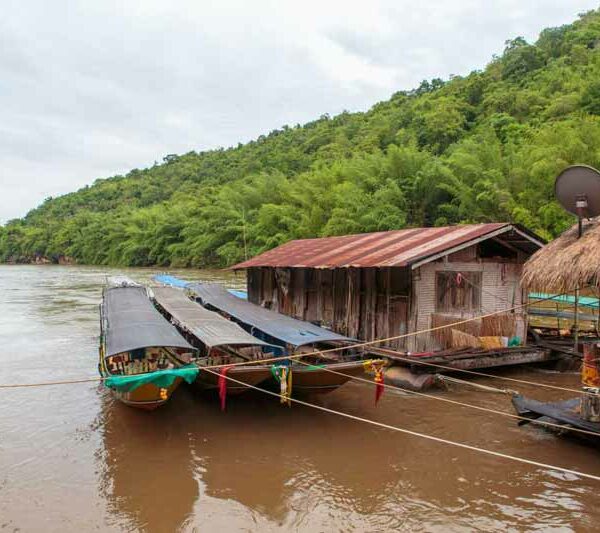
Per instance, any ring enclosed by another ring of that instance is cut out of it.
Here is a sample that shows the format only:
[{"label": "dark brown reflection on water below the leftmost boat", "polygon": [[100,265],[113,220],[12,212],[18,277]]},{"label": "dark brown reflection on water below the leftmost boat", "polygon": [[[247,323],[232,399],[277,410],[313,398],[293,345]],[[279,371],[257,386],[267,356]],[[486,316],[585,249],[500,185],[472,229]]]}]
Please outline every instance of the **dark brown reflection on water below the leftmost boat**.
[{"label": "dark brown reflection on water below the leftmost boat", "polygon": [[115,523],[175,531],[192,513],[198,483],[184,403],[174,401],[148,416],[103,394],[99,487]]}]

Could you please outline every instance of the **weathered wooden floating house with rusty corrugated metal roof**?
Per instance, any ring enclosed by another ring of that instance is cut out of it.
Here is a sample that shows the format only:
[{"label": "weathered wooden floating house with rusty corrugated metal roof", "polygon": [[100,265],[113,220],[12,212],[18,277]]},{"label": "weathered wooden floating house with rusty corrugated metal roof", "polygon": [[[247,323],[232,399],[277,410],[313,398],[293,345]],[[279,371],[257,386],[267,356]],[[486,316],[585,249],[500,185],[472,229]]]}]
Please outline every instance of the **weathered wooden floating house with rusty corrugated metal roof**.
[{"label": "weathered wooden floating house with rusty corrugated metal roof", "polygon": [[[294,240],[232,268],[247,271],[253,303],[374,340],[519,306],[523,263],[543,244],[515,224],[411,228]],[[523,339],[526,315],[517,309],[456,329]],[[450,345],[447,329],[382,344]]]}]

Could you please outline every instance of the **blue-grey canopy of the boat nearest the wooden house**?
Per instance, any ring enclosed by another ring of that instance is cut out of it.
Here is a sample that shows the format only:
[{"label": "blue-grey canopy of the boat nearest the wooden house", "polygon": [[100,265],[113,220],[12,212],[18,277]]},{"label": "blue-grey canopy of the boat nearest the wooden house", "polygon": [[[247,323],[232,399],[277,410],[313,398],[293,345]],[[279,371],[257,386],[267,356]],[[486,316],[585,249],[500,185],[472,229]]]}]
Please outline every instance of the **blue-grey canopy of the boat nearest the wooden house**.
[{"label": "blue-grey canopy of the boat nearest the wooden house", "polygon": [[188,289],[201,300],[203,305],[209,305],[227,313],[253,329],[260,330],[294,347],[316,342],[353,341],[349,337],[315,326],[310,322],[296,320],[255,305],[248,300],[237,298],[217,283],[190,283]]}]

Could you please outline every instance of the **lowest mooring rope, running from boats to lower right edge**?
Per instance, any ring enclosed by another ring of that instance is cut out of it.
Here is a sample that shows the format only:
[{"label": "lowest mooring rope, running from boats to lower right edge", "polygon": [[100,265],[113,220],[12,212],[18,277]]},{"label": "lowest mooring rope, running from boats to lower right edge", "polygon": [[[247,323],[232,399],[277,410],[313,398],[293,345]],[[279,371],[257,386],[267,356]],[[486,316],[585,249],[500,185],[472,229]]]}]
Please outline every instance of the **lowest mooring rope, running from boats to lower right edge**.
[{"label": "lowest mooring rope, running from boats to lower right edge", "polygon": [[[215,375],[219,375],[218,372],[213,372],[212,370],[209,370],[210,373],[215,374]],[[268,391],[265,389],[261,389],[260,387],[256,387],[254,385],[249,385],[247,383],[244,383],[243,381],[239,381],[237,379],[232,378],[231,376],[225,375],[225,379],[232,381],[233,383],[237,383],[238,385],[244,385],[245,387],[248,387],[250,389],[253,390],[257,390],[259,392],[264,392],[265,394],[268,394],[270,396],[274,396],[276,398],[280,398],[281,399],[281,394],[277,393],[277,392],[272,392],[272,391]],[[444,439],[442,437],[436,437],[434,435],[428,435],[426,433],[419,433],[417,431],[412,431],[410,429],[406,429],[406,428],[401,428],[401,427],[397,427],[397,426],[392,426],[390,424],[385,424],[383,422],[377,422],[376,420],[370,420],[368,418],[363,418],[360,416],[356,416],[356,415],[351,415],[349,413],[344,413],[342,411],[336,411],[334,409],[329,409],[328,407],[323,407],[321,405],[317,405],[314,403],[310,403],[310,402],[305,402],[303,400],[299,400],[297,398],[290,398],[290,400],[294,403],[297,403],[299,405],[304,405],[306,407],[312,407],[313,409],[318,409],[319,411],[323,411],[325,413],[330,413],[330,414],[335,414],[344,418],[348,418],[350,420],[355,420],[357,422],[363,422],[365,424],[371,424],[373,426],[377,426],[383,429],[389,429],[391,431],[396,431],[398,433],[404,433],[406,435],[412,435],[413,437],[420,437],[423,439],[427,439],[427,440],[431,440],[434,442],[439,442],[441,444],[448,444],[450,446],[454,446],[456,448],[462,448],[465,450],[470,450],[473,452],[478,452],[478,453],[482,453],[482,454],[486,454],[486,455],[491,455],[493,457],[499,457],[502,459],[507,459],[510,461],[515,461],[518,463],[523,463],[523,464],[528,464],[528,465],[532,465],[532,466],[537,466],[539,468],[546,468],[548,470],[555,470],[557,472],[563,472],[565,474],[571,474],[574,476],[579,476],[579,477],[583,477],[586,479],[592,479],[594,481],[600,481],[600,476],[596,476],[594,474],[587,474],[585,472],[580,472],[579,470],[571,470],[569,468],[564,468],[561,466],[555,466],[555,465],[550,465],[547,463],[541,463],[538,461],[533,461],[531,459],[525,459],[523,457],[517,457],[515,455],[509,455],[506,453],[502,453],[502,452],[496,452],[493,450],[487,450],[486,448],[480,448],[478,446],[473,446],[471,444],[465,444],[463,442],[457,442],[457,441],[452,441],[449,439]]]}]

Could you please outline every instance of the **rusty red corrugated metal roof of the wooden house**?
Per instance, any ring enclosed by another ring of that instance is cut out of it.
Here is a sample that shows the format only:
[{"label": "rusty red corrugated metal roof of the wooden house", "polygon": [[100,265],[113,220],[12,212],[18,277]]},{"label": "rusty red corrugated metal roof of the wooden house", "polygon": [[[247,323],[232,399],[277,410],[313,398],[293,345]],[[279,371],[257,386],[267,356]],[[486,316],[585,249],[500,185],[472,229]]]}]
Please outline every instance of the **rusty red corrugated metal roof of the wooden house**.
[{"label": "rusty red corrugated metal roof of the wooden house", "polygon": [[411,228],[341,237],[299,239],[282,244],[231,268],[406,267],[427,258],[433,260],[442,252],[451,253],[453,249],[464,247],[482,237],[513,230],[538,246],[543,244],[541,239],[527,230],[507,223]]}]

